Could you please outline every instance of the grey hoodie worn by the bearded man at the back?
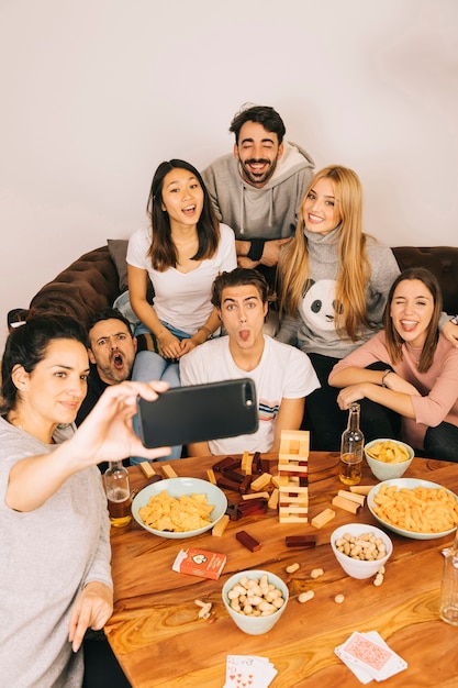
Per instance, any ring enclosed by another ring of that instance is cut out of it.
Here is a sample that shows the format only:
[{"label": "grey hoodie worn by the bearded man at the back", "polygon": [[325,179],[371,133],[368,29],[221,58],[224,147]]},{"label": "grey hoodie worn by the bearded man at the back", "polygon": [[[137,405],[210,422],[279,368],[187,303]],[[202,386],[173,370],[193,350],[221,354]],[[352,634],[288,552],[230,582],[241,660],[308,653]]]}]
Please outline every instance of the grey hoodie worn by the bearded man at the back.
[{"label": "grey hoodie worn by the bearded man at the back", "polygon": [[228,224],[236,238],[283,238],[295,230],[297,214],[314,166],[309,153],[286,141],[283,155],[261,189],[242,178],[233,154],[216,158],[202,177],[220,222]]}]

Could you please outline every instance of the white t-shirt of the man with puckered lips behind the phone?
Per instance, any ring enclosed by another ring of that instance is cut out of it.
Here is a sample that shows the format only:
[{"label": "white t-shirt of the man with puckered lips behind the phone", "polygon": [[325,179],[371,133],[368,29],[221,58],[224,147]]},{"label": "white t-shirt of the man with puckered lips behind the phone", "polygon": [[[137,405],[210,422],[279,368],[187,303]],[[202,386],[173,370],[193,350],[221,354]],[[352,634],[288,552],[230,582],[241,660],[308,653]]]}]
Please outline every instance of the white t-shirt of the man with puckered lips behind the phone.
[{"label": "white t-shirt of the man with puckered lips behind the phone", "polygon": [[[238,368],[228,348],[228,336],[205,342],[180,358],[183,387],[249,377],[258,401],[259,428],[249,435],[209,442],[212,454],[269,452],[275,422],[282,399],[301,399],[320,387],[319,378],[306,354],[294,346],[264,335],[265,347],[259,365],[247,373]],[[222,413],[227,409],[222,409]]]}]

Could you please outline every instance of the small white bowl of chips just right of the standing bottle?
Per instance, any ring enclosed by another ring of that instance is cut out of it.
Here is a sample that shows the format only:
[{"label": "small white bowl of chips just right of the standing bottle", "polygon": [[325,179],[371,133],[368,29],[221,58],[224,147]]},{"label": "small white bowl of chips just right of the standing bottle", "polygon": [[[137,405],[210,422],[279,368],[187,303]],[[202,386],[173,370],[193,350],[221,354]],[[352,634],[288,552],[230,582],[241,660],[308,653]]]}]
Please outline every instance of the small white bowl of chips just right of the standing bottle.
[{"label": "small white bowl of chips just right of the standing bottle", "polygon": [[400,440],[372,440],[365,446],[366,460],[379,480],[400,478],[411,465],[414,451]]}]

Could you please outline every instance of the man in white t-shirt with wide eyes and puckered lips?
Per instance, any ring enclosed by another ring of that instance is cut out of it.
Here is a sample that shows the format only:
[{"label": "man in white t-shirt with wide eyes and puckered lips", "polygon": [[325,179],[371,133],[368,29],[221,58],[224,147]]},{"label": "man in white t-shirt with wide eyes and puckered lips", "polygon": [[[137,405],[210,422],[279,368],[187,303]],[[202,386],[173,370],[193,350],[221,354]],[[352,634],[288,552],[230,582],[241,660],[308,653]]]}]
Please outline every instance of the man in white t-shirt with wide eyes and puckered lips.
[{"label": "man in white t-shirt with wide eyes and puckered lips", "polygon": [[264,333],[268,290],[264,276],[249,268],[222,273],[213,282],[212,303],[226,335],[182,356],[181,384],[250,377],[256,386],[259,429],[249,435],[191,444],[190,456],[278,451],[281,431],[300,429],[305,397],[320,387],[306,354]]}]

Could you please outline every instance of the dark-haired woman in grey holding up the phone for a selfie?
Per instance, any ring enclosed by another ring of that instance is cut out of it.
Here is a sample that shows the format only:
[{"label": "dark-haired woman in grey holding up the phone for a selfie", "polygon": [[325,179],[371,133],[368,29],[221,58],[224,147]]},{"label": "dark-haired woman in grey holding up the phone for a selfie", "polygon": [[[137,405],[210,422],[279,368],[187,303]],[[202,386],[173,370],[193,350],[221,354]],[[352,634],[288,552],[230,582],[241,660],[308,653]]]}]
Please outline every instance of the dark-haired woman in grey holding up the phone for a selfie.
[{"label": "dark-haired woman in grey holding up the phone for a selfie", "polygon": [[[145,450],[132,431],[137,396],[154,400],[164,382],[110,386],[76,430],[88,374],[86,332],[71,318],[31,318],[8,337],[0,418],[4,686],[91,685],[82,684],[83,635],[102,629],[113,610],[110,521],[97,464],[167,451]],[[105,685],[129,685],[112,668],[103,667]]]}]

